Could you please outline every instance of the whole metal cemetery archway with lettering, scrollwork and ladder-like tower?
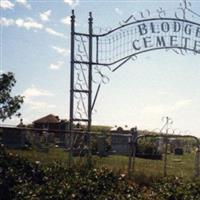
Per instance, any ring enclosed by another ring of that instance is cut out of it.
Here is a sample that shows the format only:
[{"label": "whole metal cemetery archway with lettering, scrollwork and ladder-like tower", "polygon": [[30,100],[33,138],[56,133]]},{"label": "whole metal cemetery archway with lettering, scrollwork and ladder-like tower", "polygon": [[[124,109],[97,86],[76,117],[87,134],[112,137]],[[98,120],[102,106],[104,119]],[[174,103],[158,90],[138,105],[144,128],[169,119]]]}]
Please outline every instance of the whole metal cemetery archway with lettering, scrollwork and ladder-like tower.
[{"label": "whole metal cemetery archway with lettering, scrollwork and ladder-like tower", "polygon": [[96,34],[92,13],[88,19],[89,32],[80,33],[75,31],[72,11],[70,130],[74,122],[85,122],[90,131],[98,92],[109,81],[107,72],[114,72],[139,54],[153,50],[200,54],[200,14],[192,10],[191,3],[183,0],[170,15],[159,8],[156,16],[145,10],[129,16],[115,29],[99,30]]}]

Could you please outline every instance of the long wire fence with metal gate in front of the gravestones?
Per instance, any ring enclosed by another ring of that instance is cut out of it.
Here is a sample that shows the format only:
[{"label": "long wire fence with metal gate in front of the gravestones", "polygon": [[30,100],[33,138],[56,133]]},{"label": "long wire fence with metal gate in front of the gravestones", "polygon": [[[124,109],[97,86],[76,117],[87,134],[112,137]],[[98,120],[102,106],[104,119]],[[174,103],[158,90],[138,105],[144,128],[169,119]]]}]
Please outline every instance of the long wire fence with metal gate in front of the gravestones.
[{"label": "long wire fence with metal gate in front of the gravestones", "polygon": [[199,140],[190,135],[0,127],[0,139],[9,153],[47,165],[90,161],[130,176],[199,176]]}]

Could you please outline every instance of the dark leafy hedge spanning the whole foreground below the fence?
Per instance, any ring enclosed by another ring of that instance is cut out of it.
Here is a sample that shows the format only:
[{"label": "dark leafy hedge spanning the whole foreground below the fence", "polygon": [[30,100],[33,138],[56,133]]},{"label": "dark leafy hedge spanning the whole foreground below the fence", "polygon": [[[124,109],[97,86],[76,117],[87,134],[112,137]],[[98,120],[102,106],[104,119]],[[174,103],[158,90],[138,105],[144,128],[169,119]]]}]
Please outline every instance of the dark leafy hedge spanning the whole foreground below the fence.
[{"label": "dark leafy hedge spanning the whole foreground below the fence", "polygon": [[68,168],[54,162],[28,162],[0,149],[1,199],[198,200],[200,181],[157,178],[141,184],[107,168]]}]

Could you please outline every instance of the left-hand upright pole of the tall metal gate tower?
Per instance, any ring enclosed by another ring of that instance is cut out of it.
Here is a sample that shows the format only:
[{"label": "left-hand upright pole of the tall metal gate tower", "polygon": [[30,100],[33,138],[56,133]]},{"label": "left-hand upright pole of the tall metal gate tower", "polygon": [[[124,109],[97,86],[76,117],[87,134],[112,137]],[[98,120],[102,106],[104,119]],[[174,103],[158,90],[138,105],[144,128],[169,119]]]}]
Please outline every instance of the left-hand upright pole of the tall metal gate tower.
[{"label": "left-hand upright pole of the tall metal gate tower", "polygon": [[71,71],[70,71],[70,116],[69,116],[69,131],[70,131],[70,152],[69,152],[69,165],[72,161],[72,145],[73,145],[73,121],[74,121],[74,43],[75,43],[75,15],[72,10],[71,15]]}]

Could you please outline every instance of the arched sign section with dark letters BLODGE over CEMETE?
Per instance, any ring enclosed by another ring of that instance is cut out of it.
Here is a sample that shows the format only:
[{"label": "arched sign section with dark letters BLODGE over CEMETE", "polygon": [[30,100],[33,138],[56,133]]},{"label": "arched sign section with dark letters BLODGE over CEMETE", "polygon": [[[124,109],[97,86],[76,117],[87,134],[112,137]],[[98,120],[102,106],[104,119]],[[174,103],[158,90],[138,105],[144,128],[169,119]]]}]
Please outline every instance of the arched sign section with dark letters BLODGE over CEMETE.
[{"label": "arched sign section with dark letters BLODGE over CEMETE", "polygon": [[155,19],[136,25],[136,29],[138,38],[132,42],[134,54],[162,48],[180,48],[200,53],[200,27],[193,22]]}]

